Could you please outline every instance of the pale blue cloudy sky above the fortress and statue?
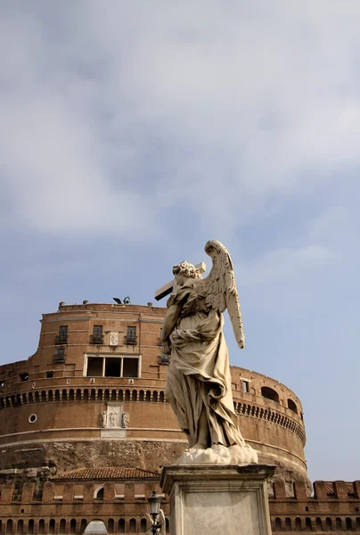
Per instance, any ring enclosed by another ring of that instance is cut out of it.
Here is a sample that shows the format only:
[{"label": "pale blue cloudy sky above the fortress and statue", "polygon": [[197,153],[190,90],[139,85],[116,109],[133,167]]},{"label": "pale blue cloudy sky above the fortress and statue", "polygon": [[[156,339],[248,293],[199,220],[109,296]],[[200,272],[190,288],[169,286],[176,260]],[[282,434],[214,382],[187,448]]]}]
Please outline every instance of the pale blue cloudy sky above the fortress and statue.
[{"label": "pale blue cloudy sky above the fortress and statue", "polygon": [[358,0],[3,0],[0,363],[217,239],[231,363],[299,396],[312,481],[360,479],[359,25]]}]

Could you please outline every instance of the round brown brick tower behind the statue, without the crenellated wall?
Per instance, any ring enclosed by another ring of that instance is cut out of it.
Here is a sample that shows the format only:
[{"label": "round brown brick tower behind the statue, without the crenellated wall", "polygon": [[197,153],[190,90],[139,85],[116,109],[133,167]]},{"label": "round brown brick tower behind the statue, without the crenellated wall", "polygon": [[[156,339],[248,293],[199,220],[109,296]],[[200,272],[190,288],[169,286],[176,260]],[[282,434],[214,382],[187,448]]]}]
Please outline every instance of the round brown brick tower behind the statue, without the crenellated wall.
[{"label": "round brown brick tower behind the statue, without the crenellated wall", "polygon": [[[0,468],[173,462],[187,441],[164,398],[165,312],[84,301],[43,315],[37,352],[0,366]],[[259,462],[278,466],[275,479],[307,481],[299,398],[266,375],[231,372],[241,433]]]}]

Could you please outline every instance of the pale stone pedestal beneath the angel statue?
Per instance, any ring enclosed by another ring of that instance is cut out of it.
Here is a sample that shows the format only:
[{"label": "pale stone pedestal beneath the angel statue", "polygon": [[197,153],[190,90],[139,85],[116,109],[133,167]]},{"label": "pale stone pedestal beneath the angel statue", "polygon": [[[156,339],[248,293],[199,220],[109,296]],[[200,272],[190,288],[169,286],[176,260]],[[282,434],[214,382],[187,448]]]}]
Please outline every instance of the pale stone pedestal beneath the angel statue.
[{"label": "pale stone pedestal beneath the angel statue", "polygon": [[266,480],[271,465],[169,465],[170,535],[271,535]]}]

